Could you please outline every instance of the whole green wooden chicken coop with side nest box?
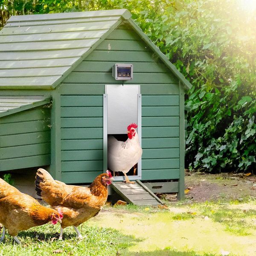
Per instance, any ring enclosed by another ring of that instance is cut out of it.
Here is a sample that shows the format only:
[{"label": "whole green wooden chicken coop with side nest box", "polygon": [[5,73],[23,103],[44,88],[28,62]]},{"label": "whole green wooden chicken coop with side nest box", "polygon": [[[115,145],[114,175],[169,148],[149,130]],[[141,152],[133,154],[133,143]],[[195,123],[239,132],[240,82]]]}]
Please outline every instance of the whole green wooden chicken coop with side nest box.
[{"label": "whole green wooden chicken coop with side nest box", "polygon": [[12,16],[0,45],[1,172],[26,180],[45,166],[90,183],[108,168],[108,136],[124,141],[137,123],[143,154],[129,179],[183,196],[191,84],[128,10]]}]

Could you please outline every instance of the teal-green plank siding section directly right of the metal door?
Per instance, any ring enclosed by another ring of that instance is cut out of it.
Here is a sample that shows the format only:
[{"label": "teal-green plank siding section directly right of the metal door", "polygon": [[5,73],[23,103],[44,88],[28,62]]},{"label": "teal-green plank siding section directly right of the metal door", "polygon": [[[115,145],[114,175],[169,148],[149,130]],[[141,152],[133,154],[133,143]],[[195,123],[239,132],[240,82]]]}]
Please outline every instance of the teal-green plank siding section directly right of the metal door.
[{"label": "teal-green plank siding section directly right of the metal door", "polygon": [[142,180],[178,179],[179,95],[142,96]]}]

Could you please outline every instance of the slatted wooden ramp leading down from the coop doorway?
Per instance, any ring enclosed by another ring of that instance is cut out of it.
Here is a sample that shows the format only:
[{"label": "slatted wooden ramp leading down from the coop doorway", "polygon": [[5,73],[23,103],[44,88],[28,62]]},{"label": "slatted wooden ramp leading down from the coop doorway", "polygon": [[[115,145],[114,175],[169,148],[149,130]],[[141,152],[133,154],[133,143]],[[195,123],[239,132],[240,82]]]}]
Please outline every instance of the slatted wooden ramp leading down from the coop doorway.
[{"label": "slatted wooden ramp leading down from the coop doorway", "polygon": [[136,180],[134,184],[124,183],[122,181],[112,182],[111,187],[128,203],[140,206],[163,204],[140,180]]}]

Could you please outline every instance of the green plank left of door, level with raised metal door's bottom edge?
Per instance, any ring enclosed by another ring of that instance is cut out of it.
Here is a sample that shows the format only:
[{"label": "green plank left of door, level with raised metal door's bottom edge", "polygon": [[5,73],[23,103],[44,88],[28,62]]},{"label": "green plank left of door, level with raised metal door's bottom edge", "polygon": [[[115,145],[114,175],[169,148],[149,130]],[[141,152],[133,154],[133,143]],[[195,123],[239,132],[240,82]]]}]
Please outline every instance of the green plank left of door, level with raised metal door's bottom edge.
[{"label": "green plank left of door, level with raised metal door's bottom edge", "polygon": [[61,139],[100,139],[103,128],[62,128]]}]

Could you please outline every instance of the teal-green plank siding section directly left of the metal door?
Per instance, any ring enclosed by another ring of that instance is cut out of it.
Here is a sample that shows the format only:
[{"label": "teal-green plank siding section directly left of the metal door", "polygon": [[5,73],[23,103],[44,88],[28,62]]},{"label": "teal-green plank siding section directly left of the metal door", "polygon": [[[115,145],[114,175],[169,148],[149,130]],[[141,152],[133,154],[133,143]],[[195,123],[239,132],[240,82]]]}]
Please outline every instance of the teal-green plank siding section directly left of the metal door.
[{"label": "teal-green plank siding section directly left of the metal door", "polygon": [[62,181],[91,182],[102,173],[102,122],[103,96],[61,96]]}]

